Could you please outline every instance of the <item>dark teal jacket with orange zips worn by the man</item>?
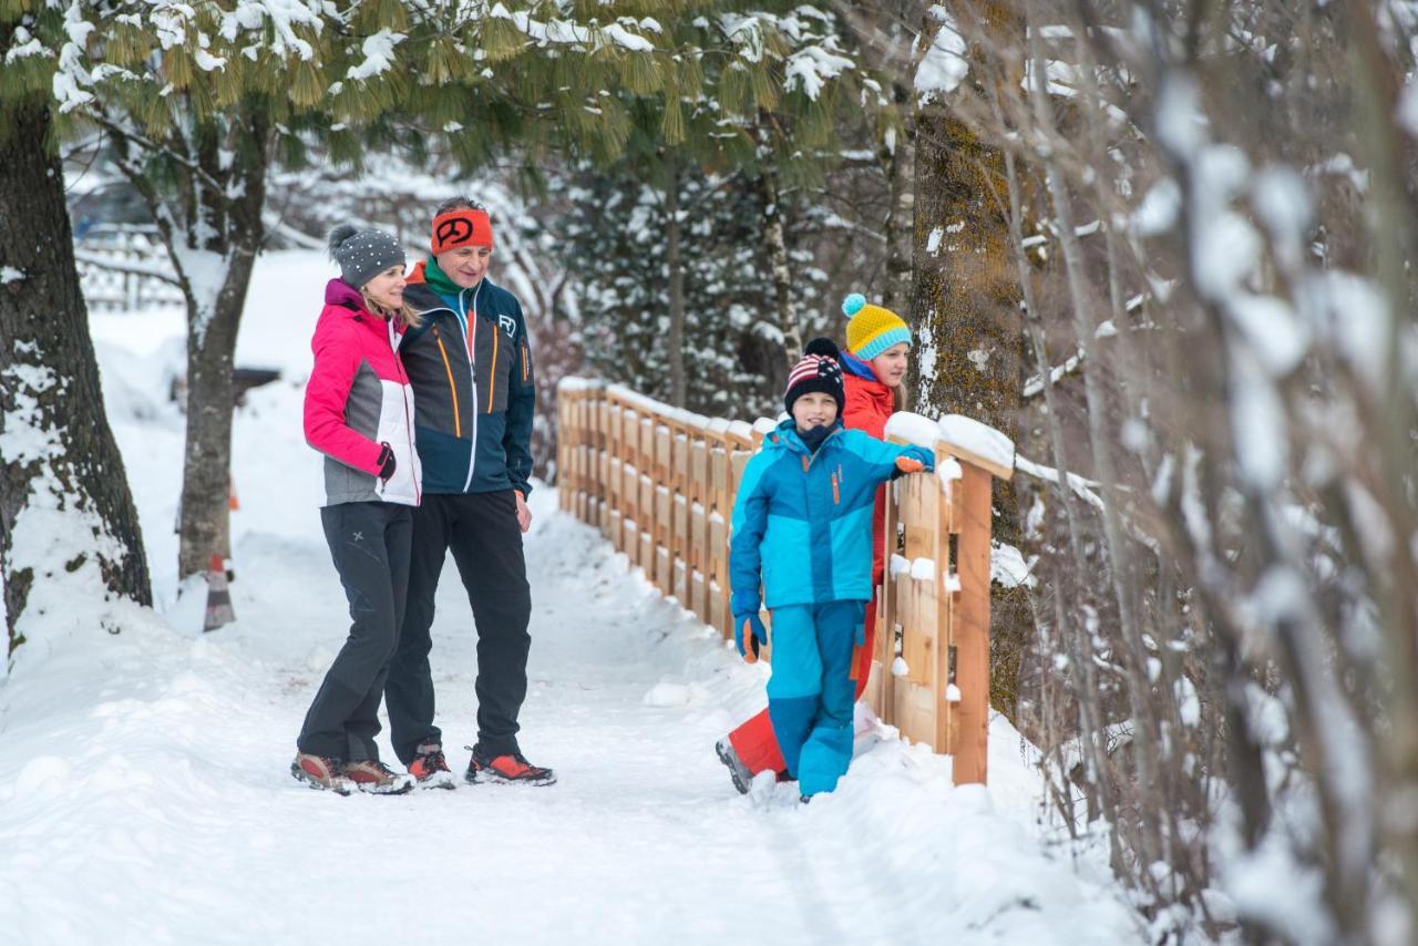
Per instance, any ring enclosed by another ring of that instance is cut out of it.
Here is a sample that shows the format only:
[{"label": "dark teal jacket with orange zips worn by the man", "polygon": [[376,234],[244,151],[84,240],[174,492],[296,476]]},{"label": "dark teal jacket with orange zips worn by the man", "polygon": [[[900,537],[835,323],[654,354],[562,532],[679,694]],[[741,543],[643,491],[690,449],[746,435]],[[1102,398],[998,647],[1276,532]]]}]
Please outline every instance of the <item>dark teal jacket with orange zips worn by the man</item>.
[{"label": "dark teal jacket with orange zips worn by the man", "polygon": [[404,305],[423,313],[398,352],[424,492],[529,494],[536,389],[522,305],[486,277],[457,286],[432,260],[410,274]]}]

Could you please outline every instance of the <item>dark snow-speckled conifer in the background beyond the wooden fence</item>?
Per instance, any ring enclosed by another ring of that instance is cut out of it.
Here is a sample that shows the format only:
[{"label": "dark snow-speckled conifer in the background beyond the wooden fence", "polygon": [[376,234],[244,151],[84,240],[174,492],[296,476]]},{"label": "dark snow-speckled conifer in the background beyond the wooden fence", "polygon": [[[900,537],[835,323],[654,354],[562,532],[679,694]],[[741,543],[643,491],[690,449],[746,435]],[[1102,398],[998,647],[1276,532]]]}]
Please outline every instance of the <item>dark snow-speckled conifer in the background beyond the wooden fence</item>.
[{"label": "dark snow-speckled conifer in the background beyond the wooden fence", "polygon": [[[556,244],[574,279],[587,360],[605,377],[669,401],[666,201],[627,160],[584,167],[564,193]],[[679,179],[685,217],[685,406],[722,417],[777,416],[786,377],[773,274],[763,254],[764,197],[744,173]],[[803,216],[788,208],[787,227]],[[794,304],[821,302],[825,275],[794,254]]]}]

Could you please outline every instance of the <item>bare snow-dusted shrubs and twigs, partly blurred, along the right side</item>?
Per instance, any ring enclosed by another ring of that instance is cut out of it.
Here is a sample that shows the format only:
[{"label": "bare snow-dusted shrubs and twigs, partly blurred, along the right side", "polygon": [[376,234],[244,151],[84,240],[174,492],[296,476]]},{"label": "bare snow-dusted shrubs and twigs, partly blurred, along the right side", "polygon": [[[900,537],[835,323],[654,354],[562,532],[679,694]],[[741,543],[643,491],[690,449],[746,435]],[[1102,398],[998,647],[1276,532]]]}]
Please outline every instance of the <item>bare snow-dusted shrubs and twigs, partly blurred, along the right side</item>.
[{"label": "bare snow-dusted shrubs and twigs, partly blurred, along the right side", "polygon": [[1409,942],[1414,7],[1017,11],[953,9],[951,112],[1003,155],[1062,824],[1159,942]]}]

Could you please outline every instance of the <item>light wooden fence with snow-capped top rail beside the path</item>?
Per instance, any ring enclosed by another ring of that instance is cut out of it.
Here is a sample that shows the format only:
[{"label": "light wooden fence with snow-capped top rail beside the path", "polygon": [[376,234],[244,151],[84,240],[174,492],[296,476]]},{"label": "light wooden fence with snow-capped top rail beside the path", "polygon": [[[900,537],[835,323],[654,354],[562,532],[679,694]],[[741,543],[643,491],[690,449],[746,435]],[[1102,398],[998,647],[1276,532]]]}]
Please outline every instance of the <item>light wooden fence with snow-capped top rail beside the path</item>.
[{"label": "light wooden fence with snow-capped top rail beside the path", "polygon": [[[710,420],[577,377],[560,383],[557,411],[562,508],[732,638],[729,518],[744,464],[771,424]],[[886,433],[933,448],[937,475],[896,481],[886,503],[896,543],[878,589],[865,699],[908,739],[951,755],[957,784],[984,781],[990,491],[993,477],[1012,474],[1012,444],[964,417],[936,424],[898,414]]]}]

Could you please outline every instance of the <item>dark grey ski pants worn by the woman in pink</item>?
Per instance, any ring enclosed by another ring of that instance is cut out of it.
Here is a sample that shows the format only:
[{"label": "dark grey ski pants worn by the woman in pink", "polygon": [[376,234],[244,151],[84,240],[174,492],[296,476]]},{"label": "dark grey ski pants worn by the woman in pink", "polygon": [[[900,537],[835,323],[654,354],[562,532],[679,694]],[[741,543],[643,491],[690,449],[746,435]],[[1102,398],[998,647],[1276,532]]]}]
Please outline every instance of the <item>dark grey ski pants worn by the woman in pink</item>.
[{"label": "dark grey ski pants worn by the woman in pink", "polygon": [[377,760],[379,701],[404,620],[413,508],[342,502],[320,509],[320,523],[353,623],[295,745],[345,762]]}]

